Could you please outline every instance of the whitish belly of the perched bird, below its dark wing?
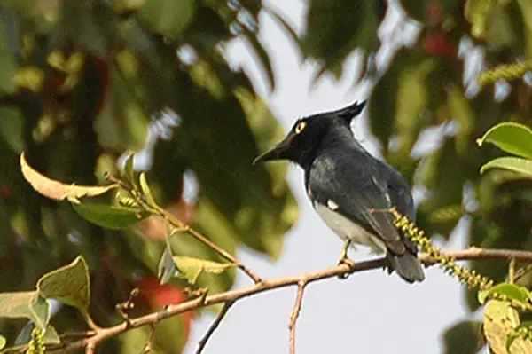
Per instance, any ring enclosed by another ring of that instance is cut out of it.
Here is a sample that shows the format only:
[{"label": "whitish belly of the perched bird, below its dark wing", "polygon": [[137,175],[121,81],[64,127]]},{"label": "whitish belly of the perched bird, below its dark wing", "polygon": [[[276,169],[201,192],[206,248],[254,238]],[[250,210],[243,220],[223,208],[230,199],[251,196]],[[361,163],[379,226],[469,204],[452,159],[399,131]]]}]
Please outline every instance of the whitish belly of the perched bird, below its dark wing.
[{"label": "whitish belly of the perched bird, below its dark wing", "polygon": [[375,253],[386,253],[386,245],[372,232],[368,232],[364,227],[353,223],[347,217],[341,216],[325,205],[316,202],[314,203],[314,208],[317,214],[325,221],[325,224],[342,240],[351,240],[355,244],[368,246]]}]

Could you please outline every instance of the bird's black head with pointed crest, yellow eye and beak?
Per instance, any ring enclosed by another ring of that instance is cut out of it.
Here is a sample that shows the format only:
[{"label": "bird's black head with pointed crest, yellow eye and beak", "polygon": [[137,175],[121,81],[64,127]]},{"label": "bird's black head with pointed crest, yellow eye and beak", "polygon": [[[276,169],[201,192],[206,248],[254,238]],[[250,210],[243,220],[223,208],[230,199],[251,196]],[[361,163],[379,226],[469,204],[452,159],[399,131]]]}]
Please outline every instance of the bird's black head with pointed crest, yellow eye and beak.
[{"label": "bird's black head with pointed crest, yellow eye and beak", "polygon": [[[253,163],[289,160],[305,168],[316,157],[317,149],[332,129],[350,132],[350,124],[364,109],[365,101],[355,102],[336,111],[324,112],[298,119],[286,137],[270,151],[262,153]],[[347,130],[345,129],[347,128]]]}]

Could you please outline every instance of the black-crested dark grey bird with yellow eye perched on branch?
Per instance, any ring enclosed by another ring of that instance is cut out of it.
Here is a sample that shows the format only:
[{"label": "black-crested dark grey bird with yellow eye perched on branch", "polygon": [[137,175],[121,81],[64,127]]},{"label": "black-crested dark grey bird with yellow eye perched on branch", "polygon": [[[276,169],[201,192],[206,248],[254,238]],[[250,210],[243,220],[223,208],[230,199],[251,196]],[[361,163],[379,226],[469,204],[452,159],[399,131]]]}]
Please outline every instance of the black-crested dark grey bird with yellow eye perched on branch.
[{"label": "black-crested dark grey bird with yellow eye perched on branch", "polygon": [[348,248],[369,246],[386,254],[388,270],[409,283],[425,274],[418,248],[395,226],[395,208],[415,222],[411,189],[394,168],[368,153],[355,138],[351,122],[366,101],[304,116],[277,146],[259,155],[254,164],[288,160],[304,171],[304,185],[317,214],[342,240],[339,264],[354,266]]}]

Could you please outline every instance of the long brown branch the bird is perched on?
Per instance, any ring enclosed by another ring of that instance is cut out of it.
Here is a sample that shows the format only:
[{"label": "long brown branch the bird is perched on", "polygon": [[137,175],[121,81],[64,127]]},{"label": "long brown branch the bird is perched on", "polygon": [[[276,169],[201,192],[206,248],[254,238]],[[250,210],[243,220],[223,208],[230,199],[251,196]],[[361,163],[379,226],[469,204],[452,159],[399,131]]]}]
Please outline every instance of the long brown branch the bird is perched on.
[{"label": "long brown branch the bird is perched on", "polygon": [[[483,249],[483,248],[467,248],[459,251],[444,252],[444,256],[449,256],[457,261],[469,260],[469,259],[484,259],[484,260],[508,260],[516,259],[517,261],[532,262],[532,252],[512,250],[512,249]],[[434,264],[434,261],[426,256],[420,255],[419,258],[425,264]],[[311,282],[338,277],[348,273],[355,273],[359,271],[370,271],[373,269],[382,268],[387,264],[386,258],[379,258],[371,261],[365,261],[355,264],[355,266],[349,269],[348,264],[339,264],[331,268],[326,268],[320,271],[310,271],[299,275],[284,277],[271,280],[262,280],[259,283],[252,285],[251,287],[244,287],[235,290],[229,290],[220,294],[200,296],[189,300],[185,303],[179,303],[176,305],[170,305],[163,311],[141,316],[137,319],[129,319],[129,323],[123,322],[120,325],[101,328],[97,334],[94,334],[90,338],[85,338],[77,342],[68,343],[62,345],[60,349],[57,346],[53,346],[48,349],[50,353],[67,353],[74,352],[76,350],[82,350],[89,345],[98,345],[101,342],[122,334],[131,329],[147,326],[153,323],[157,323],[162,319],[176,316],[177,314],[185,311],[193,311],[201,307],[214,305],[216,303],[235,303],[238,300],[247,296],[259,294],[268,290],[278,289],[281,287],[298,286],[301,283],[309,284]]]}]

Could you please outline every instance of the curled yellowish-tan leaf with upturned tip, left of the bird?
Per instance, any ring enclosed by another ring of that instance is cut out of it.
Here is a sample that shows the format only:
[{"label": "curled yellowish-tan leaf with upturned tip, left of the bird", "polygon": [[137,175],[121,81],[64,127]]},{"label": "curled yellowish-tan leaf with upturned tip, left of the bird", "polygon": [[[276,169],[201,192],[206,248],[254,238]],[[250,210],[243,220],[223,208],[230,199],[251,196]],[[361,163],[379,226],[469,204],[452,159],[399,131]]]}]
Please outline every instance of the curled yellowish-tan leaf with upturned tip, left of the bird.
[{"label": "curled yellowish-tan leaf with upturned tip, left of the bird", "polygon": [[79,202],[81,197],[95,197],[106,193],[118,185],[106,186],[88,186],[88,185],[66,185],[62,182],[43,176],[41,173],[32,169],[27,164],[24,153],[20,153],[20,169],[27,182],[35,189],[36,192],[43,194],[45,197],[56,201],[67,199],[73,203]]}]

